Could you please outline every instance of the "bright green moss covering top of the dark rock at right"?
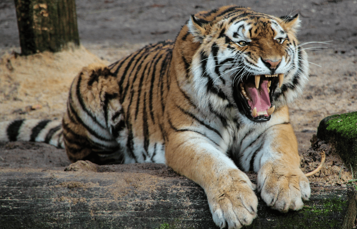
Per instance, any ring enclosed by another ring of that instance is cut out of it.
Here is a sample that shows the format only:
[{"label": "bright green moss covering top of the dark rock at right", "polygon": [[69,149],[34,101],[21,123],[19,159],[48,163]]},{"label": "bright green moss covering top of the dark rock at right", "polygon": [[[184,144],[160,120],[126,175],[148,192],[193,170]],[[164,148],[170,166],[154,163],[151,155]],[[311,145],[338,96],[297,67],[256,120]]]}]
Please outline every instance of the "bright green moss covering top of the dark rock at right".
[{"label": "bright green moss covering top of the dark rock at right", "polygon": [[336,131],[343,138],[357,138],[357,112],[330,116],[326,124],[327,130]]}]

